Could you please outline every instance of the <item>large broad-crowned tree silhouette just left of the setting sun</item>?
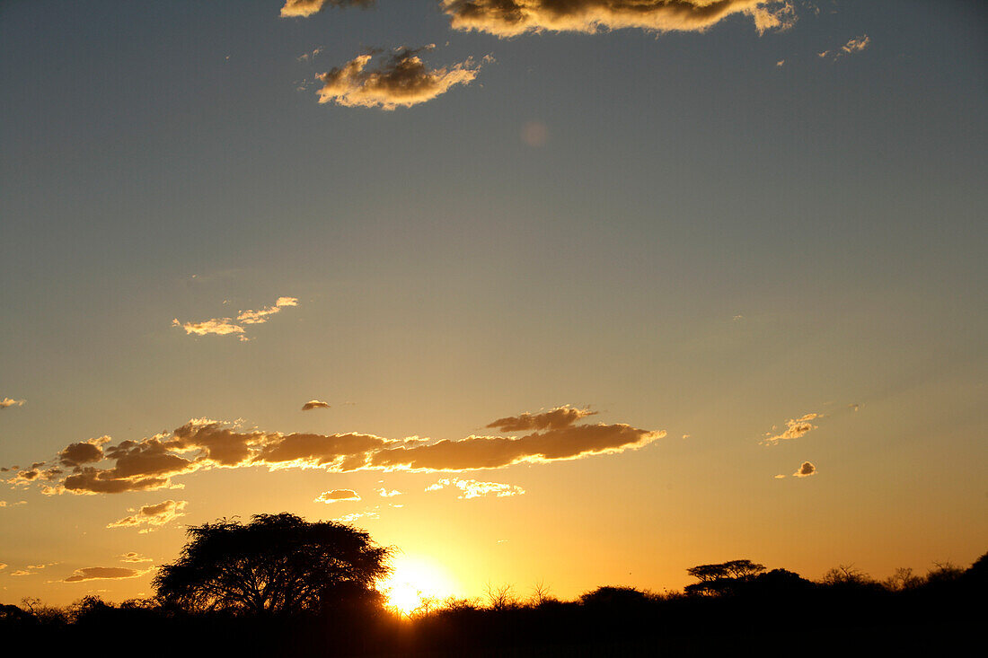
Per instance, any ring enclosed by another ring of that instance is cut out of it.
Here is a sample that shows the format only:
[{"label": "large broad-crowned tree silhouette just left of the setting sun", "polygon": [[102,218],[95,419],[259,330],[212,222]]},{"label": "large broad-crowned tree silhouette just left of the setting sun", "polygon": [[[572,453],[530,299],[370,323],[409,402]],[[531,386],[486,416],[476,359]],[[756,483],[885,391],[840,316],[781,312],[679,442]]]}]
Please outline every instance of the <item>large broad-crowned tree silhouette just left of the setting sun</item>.
[{"label": "large broad-crowned tree silhouette just left of the setting sun", "polygon": [[291,514],[257,514],[193,526],[179,559],[153,586],[167,606],[189,612],[296,614],[378,602],[390,549],[371,535]]}]

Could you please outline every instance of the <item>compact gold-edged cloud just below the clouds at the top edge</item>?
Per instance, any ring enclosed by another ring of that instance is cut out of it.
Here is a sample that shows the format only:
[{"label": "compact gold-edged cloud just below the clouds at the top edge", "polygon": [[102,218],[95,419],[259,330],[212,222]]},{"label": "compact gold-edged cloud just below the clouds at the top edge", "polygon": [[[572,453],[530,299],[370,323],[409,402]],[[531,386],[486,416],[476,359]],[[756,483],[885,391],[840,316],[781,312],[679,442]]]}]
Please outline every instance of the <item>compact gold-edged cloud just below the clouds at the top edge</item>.
[{"label": "compact gold-edged cloud just below the clouds at the top edge", "polygon": [[371,64],[372,54],[363,54],[316,76],[322,82],[319,103],[348,108],[395,110],[431,101],[455,85],[465,85],[477,76],[479,65],[470,58],[450,67],[427,68],[419,53],[432,49],[398,48]]}]

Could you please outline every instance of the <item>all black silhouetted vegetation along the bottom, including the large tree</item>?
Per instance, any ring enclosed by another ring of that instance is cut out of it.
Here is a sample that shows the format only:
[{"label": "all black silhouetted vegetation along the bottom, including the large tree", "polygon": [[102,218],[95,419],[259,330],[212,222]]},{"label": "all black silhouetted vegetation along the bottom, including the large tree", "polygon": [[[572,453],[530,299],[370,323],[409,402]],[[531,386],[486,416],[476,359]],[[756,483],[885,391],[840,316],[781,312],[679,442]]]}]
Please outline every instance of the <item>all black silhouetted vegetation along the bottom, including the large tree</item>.
[{"label": "all black silhouetted vegetation along the bottom, including the large tree", "polygon": [[683,593],[600,587],[559,601],[537,586],[522,600],[502,587],[401,615],[373,590],[389,550],[356,529],[270,515],[190,536],[153,599],[3,606],[7,655],[945,655],[981,646],[988,593],[988,553],[883,581],[853,566],[810,581],[733,560],[689,569],[698,582]]}]

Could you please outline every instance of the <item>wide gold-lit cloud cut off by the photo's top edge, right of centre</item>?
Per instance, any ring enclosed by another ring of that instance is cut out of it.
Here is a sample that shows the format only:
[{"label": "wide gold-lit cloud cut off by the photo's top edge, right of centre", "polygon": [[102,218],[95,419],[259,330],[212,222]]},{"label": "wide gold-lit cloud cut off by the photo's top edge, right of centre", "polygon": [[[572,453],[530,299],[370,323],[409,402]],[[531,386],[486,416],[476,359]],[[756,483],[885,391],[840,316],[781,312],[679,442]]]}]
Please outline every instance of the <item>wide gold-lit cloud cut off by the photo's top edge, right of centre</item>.
[{"label": "wide gold-lit cloud cut off by the photo's top edge, right of centre", "polygon": [[767,0],[441,0],[454,30],[502,38],[541,32],[596,33],[622,28],[702,32],[746,15],[758,32],[795,22],[791,2]]}]

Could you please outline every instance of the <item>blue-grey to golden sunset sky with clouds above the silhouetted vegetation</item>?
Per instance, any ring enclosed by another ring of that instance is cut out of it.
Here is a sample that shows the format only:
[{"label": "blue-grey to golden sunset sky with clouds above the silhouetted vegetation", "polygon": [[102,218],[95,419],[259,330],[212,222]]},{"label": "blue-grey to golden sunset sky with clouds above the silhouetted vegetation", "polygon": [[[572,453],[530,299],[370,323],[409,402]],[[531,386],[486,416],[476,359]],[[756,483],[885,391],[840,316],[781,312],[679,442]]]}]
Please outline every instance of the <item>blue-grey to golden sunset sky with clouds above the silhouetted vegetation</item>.
[{"label": "blue-grey to golden sunset sky with clouds above the silhouetted vegetation", "polygon": [[290,512],[384,586],[988,549],[988,10],[0,4],[0,602]]}]

